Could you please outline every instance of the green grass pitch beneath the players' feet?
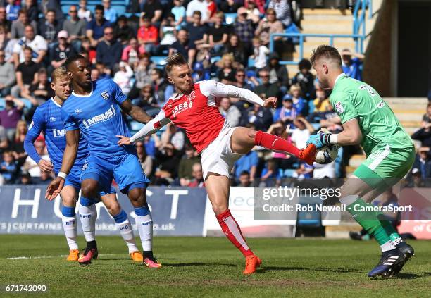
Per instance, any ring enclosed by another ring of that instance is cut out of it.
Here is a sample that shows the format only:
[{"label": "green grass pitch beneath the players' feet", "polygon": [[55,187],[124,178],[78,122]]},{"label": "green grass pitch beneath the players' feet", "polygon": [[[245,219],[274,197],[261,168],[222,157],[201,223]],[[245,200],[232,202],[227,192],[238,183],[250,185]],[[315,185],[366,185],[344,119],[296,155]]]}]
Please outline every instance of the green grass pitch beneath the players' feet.
[{"label": "green grass pitch beneath the players' feet", "polygon": [[[120,237],[98,237],[101,256],[81,267],[61,256],[68,252],[64,237],[0,235],[0,285],[47,285],[50,297],[62,298],[430,297],[430,241],[411,241],[416,256],[397,278],[375,280],[367,277],[380,258],[373,241],[249,239],[263,260],[250,277],[242,275],[244,259],[225,238],[156,237],[154,242],[163,263],[159,270],[133,264]],[[7,259],[18,256],[30,259]]]}]

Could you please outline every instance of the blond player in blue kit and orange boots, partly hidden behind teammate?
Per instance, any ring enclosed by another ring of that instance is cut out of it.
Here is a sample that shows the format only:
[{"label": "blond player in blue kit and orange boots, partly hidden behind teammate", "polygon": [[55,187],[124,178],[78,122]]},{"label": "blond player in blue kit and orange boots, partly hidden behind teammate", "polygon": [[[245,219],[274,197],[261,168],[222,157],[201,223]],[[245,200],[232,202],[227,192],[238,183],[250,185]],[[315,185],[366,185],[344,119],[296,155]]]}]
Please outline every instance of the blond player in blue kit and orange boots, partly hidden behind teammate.
[{"label": "blond player in blue kit and orange boots, partly hidden behind teammate", "polygon": [[[38,163],[41,170],[45,172],[54,170],[54,173],[58,174],[63,158],[63,151],[66,146],[65,129],[63,121],[61,120],[61,106],[71,92],[70,79],[68,78],[65,68],[57,68],[54,70],[51,75],[51,87],[54,89],[56,95],[36,109],[32,123],[25,136],[24,148],[27,154]],[[50,161],[41,159],[33,144],[41,132],[43,132],[45,136],[46,147],[48,148],[49,157],[53,164],[51,164]],[[61,219],[70,250],[68,261],[80,261],[80,263],[85,263],[85,256],[92,247],[95,247],[96,254],[94,233],[97,213],[96,207],[92,204],[93,201],[81,200],[81,204],[78,207],[85,240],[87,240],[87,249],[85,249],[81,258],[79,258],[76,242],[77,225],[75,205],[81,188],[80,176],[82,166],[84,166],[88,154],[89,149],[87,141],[84,137],[80,137],[75,163],[70,170],[70,175],[65,178],[63,190],[60,192],[63,201]],[[106,193],[101,192],[101,200],[104,202],[111,216],[113,216],[115,225],[117,225],[120,230],[133,261],[142,261],[142,254],[137,249],[130,221],[125,211],[120,209],[120,205],[115,197],[115,190],[112,188]]]}]

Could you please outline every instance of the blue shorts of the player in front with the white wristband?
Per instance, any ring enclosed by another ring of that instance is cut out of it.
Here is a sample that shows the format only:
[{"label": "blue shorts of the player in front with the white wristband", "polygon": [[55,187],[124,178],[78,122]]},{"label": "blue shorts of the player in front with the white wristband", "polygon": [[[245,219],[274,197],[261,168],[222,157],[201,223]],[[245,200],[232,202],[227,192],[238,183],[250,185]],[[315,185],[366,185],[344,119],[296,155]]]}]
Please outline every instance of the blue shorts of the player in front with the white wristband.
[{"label": "blue shorts of the player in front with the white wristband", "polygon": [[134,188],[145,188],[149,183],[137,155],[131,153],[109,159],[90,154],[82,170],[81,180],[85,179],[99,181],[100,190],[104,192],[110,190],[115,180],[123,194]]}]

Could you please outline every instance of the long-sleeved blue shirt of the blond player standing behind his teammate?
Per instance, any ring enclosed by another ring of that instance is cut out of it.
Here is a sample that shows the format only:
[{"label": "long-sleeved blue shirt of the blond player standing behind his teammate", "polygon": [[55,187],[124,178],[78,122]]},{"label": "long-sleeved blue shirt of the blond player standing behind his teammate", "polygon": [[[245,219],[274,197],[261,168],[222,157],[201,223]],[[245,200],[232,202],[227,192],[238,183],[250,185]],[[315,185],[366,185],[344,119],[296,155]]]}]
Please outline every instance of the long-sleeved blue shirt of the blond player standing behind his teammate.
[{"label": "long-sleeved blue shirt of the blond player standing behind his teammate", "polygon": [[[45,135],[46,147],[48,149],[49,159],[54,164],[54,173],[58,173],[63,161],[63,152],[65,149],[65,128],[61,120],[61,106],[50,99],[36,108],[32,122],[28,128],[27,137],[32,142],[43,132]],[[80,135],[77,156],[73,167],[82,168],[85,159],[89,154],[88,144],[85,138]],[[32,157],[32,156],[30,156]],[[32,157],[32,159],[35,159]]]}]

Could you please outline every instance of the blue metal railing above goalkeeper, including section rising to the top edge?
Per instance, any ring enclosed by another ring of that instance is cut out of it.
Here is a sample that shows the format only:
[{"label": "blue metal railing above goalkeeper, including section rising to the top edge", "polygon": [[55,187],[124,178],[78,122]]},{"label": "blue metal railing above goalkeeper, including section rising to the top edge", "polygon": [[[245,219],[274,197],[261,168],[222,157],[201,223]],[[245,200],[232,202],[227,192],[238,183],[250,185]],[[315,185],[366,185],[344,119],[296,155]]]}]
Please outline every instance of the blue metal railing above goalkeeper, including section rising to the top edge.
[{"label": "blue metal railing above goalkeeper, including section rising to the top edge", "polygon": [[[359,11],[361,9],[361,11]],[[270,51],[274,51],[275,37],[287,37],[299,39],[299,61],[304,58],[304,42],[306,37],[320,37],[329,39],[330,46],[334,45],[334,39],[354,39],[355,51],[363,54],[363,42],[366,39],[366,13],[368,18],[373,18],[373,0],[357,0],[353,11],[353,30],[351,35],[340,34],[313,34],[313,33],[273,33],[270,35]],[[280,61],[283,65],[297,65],[299,61]]]}]

